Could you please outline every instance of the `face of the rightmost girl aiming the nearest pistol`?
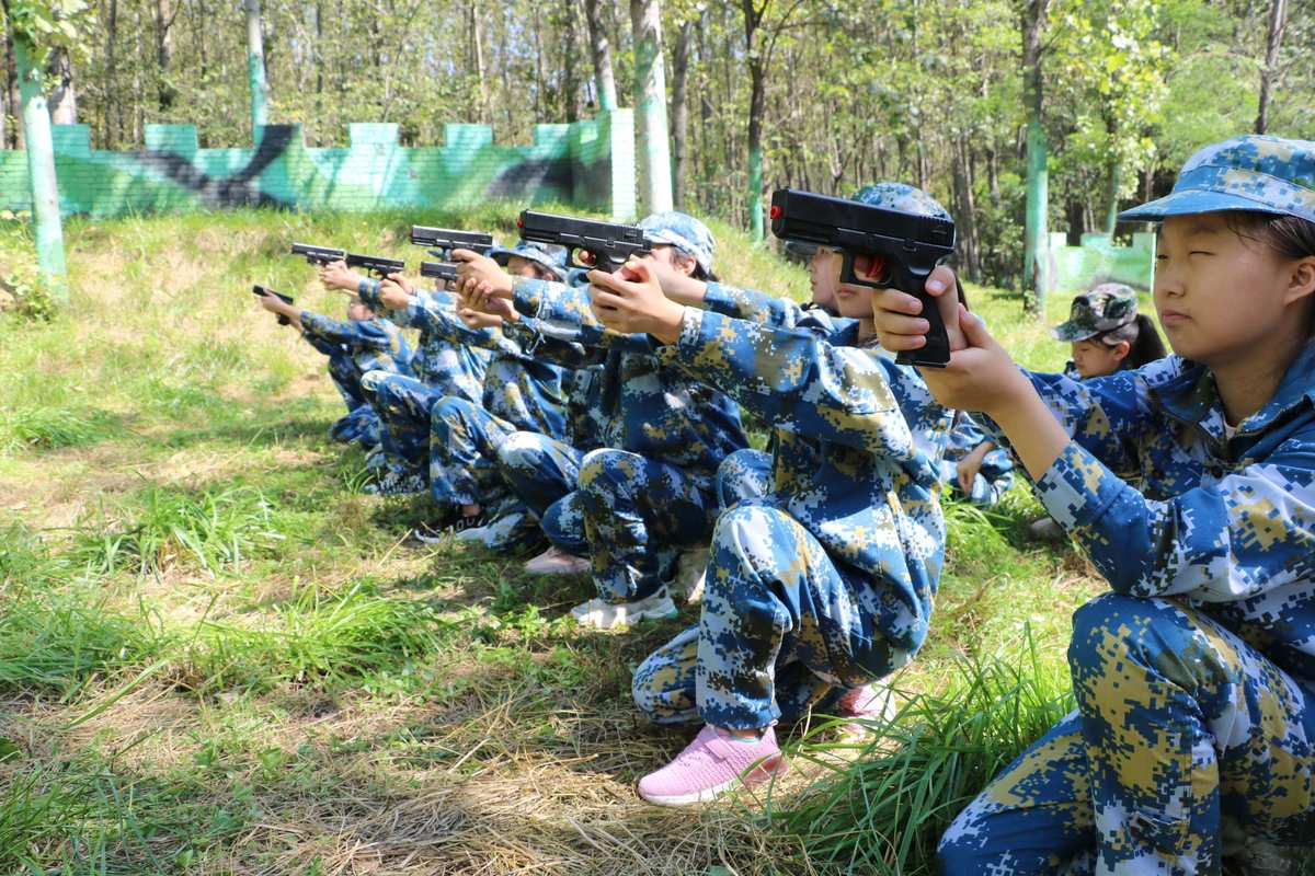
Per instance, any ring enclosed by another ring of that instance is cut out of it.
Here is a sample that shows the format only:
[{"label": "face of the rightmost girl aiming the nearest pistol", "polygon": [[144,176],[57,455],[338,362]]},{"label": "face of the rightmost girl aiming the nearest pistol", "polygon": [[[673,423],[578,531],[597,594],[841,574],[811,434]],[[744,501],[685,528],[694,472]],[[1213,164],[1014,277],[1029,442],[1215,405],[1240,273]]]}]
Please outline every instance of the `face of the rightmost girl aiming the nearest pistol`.
[{"label": "face of the rightmost girl aiming the nearest pistol", "polygon": [[1155,306],[1173,352],[1205,365],[1245,361],[1285,335],[1291,264],[1244,240],[1219,213],[1164,221]]}]

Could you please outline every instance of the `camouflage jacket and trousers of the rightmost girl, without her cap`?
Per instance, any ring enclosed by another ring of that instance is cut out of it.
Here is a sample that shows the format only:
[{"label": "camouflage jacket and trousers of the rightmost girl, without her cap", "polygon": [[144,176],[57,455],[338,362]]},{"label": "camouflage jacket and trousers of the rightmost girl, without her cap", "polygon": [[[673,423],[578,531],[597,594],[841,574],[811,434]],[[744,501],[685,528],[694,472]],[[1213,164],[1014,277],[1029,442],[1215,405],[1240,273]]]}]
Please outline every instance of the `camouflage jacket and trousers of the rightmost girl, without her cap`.
[{"label": "camouflage jacket and trousers of the rightmost girl, without her cap", "polygon": [[[1177,356],[1082,382],[1030,376],[1073,436],[1036,494],[1116,595],[1074,617],[1078,718],[960,816],[952,872],[1077,855],[1076,872],[1208,873],[1222,837],[1308,838],[1312,373],[1315,341],[1231,439],[1214,377]],[[1022,842],[1045,817],[1053,842]]]}]

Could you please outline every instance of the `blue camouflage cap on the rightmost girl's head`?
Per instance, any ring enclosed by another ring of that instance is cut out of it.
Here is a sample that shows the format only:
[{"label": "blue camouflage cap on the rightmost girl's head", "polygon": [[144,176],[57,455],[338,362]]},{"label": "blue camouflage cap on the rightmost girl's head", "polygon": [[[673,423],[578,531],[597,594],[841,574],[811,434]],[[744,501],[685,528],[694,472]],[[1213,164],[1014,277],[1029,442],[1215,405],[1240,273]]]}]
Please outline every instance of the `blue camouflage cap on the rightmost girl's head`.
[{"label": "blue camouflage cap on the rightmost girl's head", "polygon": [[1255,210],[1315,222],[1315,142],[1248,134],[1199,150],[1162,198],[1124,210],[1123,221]]}]

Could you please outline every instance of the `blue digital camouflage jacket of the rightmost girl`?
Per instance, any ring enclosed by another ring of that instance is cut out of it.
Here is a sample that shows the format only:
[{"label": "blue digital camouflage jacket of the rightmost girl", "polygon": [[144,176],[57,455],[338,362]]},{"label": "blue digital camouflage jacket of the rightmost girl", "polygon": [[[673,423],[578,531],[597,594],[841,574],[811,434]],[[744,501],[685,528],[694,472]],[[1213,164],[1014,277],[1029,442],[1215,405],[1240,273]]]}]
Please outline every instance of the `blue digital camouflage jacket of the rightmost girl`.
[{"label": "blue digital camouflage jacket of the rightmost girl", "polygon": [[1308,341],[1232,437],[1214,376],[1178,356],[1028,377],[1073,437],[1036,494],[1110,586],[1186,599],[1315,690],[1312,374]]}]

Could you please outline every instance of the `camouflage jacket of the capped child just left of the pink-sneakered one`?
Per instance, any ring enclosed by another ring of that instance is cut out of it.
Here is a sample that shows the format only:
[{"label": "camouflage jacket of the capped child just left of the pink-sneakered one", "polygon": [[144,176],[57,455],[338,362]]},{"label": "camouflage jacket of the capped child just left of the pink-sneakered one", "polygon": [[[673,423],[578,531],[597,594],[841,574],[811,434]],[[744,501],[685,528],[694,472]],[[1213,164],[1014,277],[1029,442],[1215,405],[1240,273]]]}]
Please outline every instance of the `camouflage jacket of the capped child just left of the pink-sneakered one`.
[{"label": "camouflage jacket of the capped child just left of the pink-sneakered one", "polygon": [[647,336],[606,331],[588,292],[527,278],[514,290],[515,309],[530,317],[517,331],[533,336],[535,355],[569,368],[598,366],[589,387],[589,418],[602,427],[598,447],[667,462],[707,490],[721,461],[748,447],[739,407],[725,393],[664,362]]}]

